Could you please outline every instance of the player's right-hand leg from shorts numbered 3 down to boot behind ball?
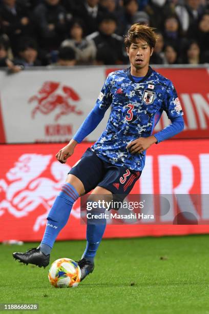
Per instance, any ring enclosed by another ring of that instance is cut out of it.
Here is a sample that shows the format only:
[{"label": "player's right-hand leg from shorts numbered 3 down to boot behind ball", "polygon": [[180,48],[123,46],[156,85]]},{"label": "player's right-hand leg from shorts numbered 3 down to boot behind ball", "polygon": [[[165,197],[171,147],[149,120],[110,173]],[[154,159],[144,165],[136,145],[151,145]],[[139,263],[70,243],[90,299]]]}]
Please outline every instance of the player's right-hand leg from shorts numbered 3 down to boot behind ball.
[{"label": "player's right-hand leg from shorts numbered 3 down to boot behind ball", "polygon": [[[102,198],[108,202],[112,199],[116,202],[122,202],[131,192],[135,182],[139,179],[141,172],[118,167],[106,162],[103,163],[103,167],[106,169],[106,173],[92,192],[91,198],[88,199],[88,201],[98,202]],[[102,208],[99,207],[91,211],[101,213]],[[105,213],[105,208],[103,208],[103,212]],[[81,279],[84,279],[87,274],[94,269],[94,257],[101,242],[102,235],[105,232],[105,228],[105,218],[103,221],[100,219],[98,219],[98,221],[87,219],[87,247],[81,260],[78,262],[83,268]]]}]

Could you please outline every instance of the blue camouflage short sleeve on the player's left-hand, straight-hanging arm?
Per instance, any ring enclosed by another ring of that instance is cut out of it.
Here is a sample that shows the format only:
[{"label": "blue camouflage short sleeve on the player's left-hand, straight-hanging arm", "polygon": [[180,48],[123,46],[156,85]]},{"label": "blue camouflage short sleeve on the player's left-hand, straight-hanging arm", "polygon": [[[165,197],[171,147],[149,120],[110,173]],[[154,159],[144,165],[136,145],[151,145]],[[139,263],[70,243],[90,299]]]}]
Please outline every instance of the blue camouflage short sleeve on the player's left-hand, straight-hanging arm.
[{"label": "blue camouflage short sleeve on the player's left-hand, straight-hanging arm", "polygon": [[106,111],[112,103],[111,75],[109,74],[97,98],[95,107]]}]

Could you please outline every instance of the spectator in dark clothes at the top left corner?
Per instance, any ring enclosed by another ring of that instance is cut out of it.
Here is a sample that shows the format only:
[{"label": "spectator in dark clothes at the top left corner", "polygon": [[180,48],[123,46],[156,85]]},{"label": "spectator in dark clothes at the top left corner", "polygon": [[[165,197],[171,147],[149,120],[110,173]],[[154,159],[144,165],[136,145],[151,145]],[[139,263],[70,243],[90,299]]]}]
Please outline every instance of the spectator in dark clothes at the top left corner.
[{"label": "spectator in dark clothes at the top left corner", "polygon": [[34,36],[31,14],[24,4],[16,0],[3,0],[0,7],[3,31],[9,36],[14,54],[22,36]]}]

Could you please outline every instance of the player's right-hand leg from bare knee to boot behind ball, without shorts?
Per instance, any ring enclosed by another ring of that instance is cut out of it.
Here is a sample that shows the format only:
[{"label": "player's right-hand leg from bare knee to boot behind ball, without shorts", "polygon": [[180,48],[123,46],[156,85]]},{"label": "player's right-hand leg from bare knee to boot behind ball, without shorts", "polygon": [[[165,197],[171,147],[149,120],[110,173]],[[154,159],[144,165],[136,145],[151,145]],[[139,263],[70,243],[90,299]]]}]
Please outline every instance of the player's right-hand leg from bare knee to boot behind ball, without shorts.
[{"label": "player's right-hand leg from bare knee to boot behind ball, without shorts", "polygon": [[[102,201],[110,202],[112,200],[112,192],[97,186],[88,198],[88,203],[97,203],[98,207],[91,209],[91,217],[105,213],[105,208],[99,206]],[[101,201],[99,203],[99,201]],[[78,265],[81,269],[81,280],[83,280],[89,273],[94,270],[94,258],[96,256],[97,249],[101,242],[103,233],[106,229],[106,218],[90,218],[87,219],[87,246],[82,254],[81,260],[78,261]]]}]

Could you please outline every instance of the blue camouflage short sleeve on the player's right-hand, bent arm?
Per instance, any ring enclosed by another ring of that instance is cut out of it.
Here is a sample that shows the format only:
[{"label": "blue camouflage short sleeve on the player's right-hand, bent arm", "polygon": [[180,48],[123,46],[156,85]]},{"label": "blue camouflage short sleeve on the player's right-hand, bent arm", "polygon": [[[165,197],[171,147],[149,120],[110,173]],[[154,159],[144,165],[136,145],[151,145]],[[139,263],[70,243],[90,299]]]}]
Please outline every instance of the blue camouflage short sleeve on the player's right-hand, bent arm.
[{"label": "blue camouflage short sleeve on the player's right-hand, bent arm", "polygon": [[179,101],[176,89],[171,81],[166,87],[164,93],[163,110],[166,112],[169,119],[183,115],[181,103]]}]

